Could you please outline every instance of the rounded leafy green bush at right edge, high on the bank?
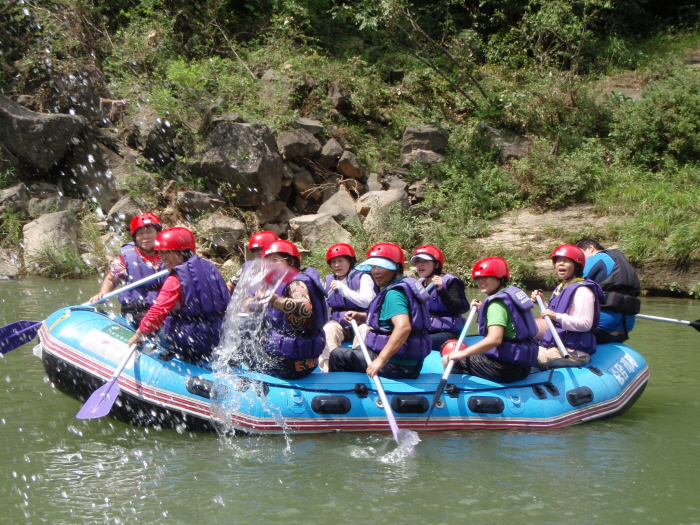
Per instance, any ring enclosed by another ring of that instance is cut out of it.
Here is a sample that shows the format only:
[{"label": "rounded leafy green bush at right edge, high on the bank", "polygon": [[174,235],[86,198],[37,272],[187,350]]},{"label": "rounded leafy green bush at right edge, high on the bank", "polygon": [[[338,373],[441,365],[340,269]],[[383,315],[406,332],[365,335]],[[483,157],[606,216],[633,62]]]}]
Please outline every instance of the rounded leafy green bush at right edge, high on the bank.
[{"label": "rounded leafy green bush at right edge, high on the bank", "polygon": [[615,115],[610,136],[621,160],[654,170],[700,159],[700,71],[679,68],[650,82],[644,98]]}]

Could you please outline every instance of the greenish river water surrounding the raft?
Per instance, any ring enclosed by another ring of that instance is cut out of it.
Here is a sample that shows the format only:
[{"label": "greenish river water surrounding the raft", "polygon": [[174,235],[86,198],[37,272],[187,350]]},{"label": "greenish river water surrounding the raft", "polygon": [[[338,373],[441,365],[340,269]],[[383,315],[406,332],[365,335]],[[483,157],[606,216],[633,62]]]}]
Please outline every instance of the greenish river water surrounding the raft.
[{"label": "greenish river water surrounding the raft", "polygon": [[[88,300],[93,281],[0,282],[0,325]],[[644,299],[694,320],[700,303]],[[700,333],[640,320],[649,385],[622,417],[546,432],[223,438],[78,421],[25,345],[0,359],[0,522],[700,523]]]}]

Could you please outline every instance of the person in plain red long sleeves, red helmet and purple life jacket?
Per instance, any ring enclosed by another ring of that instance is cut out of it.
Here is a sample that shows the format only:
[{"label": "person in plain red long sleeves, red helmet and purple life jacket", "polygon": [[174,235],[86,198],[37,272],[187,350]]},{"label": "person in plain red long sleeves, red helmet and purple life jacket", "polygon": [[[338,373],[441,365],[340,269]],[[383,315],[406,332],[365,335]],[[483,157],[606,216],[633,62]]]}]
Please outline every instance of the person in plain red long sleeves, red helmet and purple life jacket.
[{"label": "person in plain red long sleeves, red helmet and purple life jacket", "polygon": [[219,343],[230,299],[226,283],[214,263],[195,254],[194,235],[187,228],[162,231],[155,249],[170,275],[129,346],[160,329],[162,347],[191,363],[206,361]]}]

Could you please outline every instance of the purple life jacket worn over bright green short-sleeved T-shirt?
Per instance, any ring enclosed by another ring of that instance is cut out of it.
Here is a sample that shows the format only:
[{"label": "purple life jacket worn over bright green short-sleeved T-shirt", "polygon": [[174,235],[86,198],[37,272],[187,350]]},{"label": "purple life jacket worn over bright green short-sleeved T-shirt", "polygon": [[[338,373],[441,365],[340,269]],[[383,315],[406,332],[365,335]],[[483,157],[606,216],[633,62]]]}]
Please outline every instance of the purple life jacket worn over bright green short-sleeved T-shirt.
[{"label": "purple life jacket worn over bright green short-sleeved T-shirt", "polygon": [[502,301],[508,309],[515,328],[514,338],[503,338],[503,342],[496,348],[485,352],[486,355],[503,361],[513,363],[530,370],[537,361],[538,345],[534,337],[537,335],[537,323],[532,314],[534,304],[517,286],[509,286],[487,297],[479,308],[479,335],[486,336],[486,309],[492,301]]}]

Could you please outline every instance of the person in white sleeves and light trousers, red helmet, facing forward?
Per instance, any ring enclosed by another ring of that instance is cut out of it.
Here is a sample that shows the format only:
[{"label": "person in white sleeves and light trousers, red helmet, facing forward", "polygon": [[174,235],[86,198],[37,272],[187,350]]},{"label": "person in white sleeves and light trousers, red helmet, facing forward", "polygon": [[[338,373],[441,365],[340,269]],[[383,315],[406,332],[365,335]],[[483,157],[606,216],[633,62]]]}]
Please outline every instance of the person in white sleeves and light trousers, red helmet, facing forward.
[{"label": "person in white sleeves and light trousers, red helmet, facing forward", "polygon": [[[333,273],[326,275],[331,320],[323,325],[326,347],[319,358],[322,372],[328,372],[331,352],[344,341],[352,341],[355,338],[350,323],[345,320],[346,312],[367,312],[369,304],[379,291],[368,272],[355,270],[357,256],[349,244],[334,244],[328,248],[326,262]],[[367,330],[366,324],[360,324],[360,335],[363,338]]]}]

